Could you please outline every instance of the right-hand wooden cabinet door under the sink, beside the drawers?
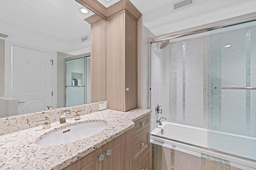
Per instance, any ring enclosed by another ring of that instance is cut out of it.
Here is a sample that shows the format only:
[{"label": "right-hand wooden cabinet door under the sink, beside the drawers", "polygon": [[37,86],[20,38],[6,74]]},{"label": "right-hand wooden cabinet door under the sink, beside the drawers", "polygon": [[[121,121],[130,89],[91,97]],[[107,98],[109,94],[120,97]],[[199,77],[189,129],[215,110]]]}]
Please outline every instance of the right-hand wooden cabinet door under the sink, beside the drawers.
[{"label": "right-hand wooden cabinet door under the sink, beside the drawers", "polygon": [[[103,146],[103,170],[130,170],[130,131]],[[111,154],[106,155],[110,149]]]}]

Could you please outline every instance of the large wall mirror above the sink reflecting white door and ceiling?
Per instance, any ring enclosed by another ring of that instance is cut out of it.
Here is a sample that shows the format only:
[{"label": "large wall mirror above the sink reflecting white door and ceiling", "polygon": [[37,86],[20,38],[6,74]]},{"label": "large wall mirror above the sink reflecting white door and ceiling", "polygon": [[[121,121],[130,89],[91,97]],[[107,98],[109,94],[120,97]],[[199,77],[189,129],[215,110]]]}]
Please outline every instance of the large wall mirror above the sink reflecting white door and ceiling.
[{"label": "large wall mirror above the sink reflecting white door and ceiling", "polygon": [[[90,68],[90,24],[84,19],[94,14],[90,10],[86,13],[86,9],[82,13],[83,7],[75,0],[1,2],[0,106],[9,111],[0,113],[0,117],[42,111],[46,106],[72,106],[75,100],[80,101],[84,91],[74,89],[90,84],[86,77]],[[81,63],[85,65],[80,67]],[[86,93],[84,103],[90,103],[90,88]],[[6,105],[12,98],[16,101]],[[12,109],[18,113],[10,114]]]}]

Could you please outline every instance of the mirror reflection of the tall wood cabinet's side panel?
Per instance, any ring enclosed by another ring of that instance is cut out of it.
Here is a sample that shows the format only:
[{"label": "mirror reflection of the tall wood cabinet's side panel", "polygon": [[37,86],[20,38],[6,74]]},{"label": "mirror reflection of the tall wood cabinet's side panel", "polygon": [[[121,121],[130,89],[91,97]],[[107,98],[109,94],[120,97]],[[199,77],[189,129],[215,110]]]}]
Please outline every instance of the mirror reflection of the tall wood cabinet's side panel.
[{"label": "mirror reflection of the tall wood cabinet's side panel", "polygon": [[91,102],[106,101],[106,20],[91,25]]}]

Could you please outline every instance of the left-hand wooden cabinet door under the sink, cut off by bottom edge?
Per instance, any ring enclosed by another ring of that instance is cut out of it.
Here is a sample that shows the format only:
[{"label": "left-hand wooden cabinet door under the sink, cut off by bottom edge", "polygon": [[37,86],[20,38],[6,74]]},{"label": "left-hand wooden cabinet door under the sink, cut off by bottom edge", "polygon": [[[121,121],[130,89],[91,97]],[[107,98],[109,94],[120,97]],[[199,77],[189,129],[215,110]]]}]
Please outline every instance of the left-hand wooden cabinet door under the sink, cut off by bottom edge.
[{"label": "left-hand wooden cabinet door under the sink, cut off by bottom edge", "polygon": [[102,170],[103,162],[100,162],[98,155],[102,154],[102,147],[82,157],[62,170]]}]

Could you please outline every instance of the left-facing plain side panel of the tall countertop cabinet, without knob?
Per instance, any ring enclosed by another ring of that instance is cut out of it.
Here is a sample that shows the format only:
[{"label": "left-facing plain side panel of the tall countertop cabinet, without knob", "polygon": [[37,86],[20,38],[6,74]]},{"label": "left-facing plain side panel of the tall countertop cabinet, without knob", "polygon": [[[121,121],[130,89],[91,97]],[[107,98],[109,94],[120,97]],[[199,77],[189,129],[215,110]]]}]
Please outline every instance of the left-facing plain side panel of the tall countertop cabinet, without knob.
[{"label": "left-facing plain side panel of the tall countertop cabinet, without knob", "polygon": [[108,109],[124,111],[124,18],[123,12],[107,20],[107,101]]}]

